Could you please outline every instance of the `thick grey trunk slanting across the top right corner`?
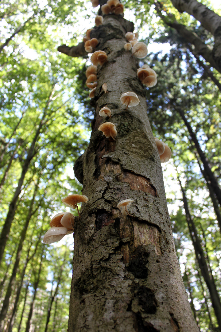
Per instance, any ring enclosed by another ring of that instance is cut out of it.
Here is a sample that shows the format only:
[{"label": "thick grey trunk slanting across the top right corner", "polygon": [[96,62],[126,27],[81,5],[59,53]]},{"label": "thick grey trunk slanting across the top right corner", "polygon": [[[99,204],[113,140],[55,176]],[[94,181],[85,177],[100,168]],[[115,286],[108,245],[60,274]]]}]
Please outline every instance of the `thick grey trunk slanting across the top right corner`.
[{"label": "thick grey trunk slanting across the top right corner", "polygon": [[214,36],[213,58],[221,66],[221,17],[215,14],[202,3],[196,0],[171,0],[174,7],[180,12],[193,15],[201,25]]}]

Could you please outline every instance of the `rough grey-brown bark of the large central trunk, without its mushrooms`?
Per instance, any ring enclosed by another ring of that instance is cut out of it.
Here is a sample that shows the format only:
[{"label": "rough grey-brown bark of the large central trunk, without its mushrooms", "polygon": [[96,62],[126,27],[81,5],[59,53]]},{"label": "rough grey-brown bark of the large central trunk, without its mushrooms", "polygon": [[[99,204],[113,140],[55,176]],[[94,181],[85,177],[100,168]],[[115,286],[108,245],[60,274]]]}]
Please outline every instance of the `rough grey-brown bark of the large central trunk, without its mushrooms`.
[{"label": "rough grey-brown bark of the large central trunk, without its mushrooms", "polygon": [[[82,204],[75,223],[68,331],[194,332],[198,328],[176,257],[138,59],[124,49],[128,27],[112,14],[90,34],[108,62],[98,68],[91,139],[75,165],[89,202]],[[140,100],[128,110],[120,102],[127,91]],[[111,119],[98,115],[105,105]],[[97,130],[103,122],[116,125],[116,141]],[[131,216],[117,208],[125,199],[134,200]]]}]

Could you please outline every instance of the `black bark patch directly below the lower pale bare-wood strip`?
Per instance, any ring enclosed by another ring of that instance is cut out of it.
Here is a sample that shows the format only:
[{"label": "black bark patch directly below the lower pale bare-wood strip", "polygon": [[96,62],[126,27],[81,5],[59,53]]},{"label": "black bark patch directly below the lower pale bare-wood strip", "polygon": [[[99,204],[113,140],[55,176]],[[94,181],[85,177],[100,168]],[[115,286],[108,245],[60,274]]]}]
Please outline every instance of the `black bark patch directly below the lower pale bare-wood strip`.
[{"label": "black bark patch directly below the lower pale bare-wood strip", "polygon": [[144,251],[141,247],[138,247],[138,249],[133,253],[127,269],[135,276],[135,278],[147,278],[148,269],[146,268],[146,264],[148,263],[148,256],[149,253]]}]

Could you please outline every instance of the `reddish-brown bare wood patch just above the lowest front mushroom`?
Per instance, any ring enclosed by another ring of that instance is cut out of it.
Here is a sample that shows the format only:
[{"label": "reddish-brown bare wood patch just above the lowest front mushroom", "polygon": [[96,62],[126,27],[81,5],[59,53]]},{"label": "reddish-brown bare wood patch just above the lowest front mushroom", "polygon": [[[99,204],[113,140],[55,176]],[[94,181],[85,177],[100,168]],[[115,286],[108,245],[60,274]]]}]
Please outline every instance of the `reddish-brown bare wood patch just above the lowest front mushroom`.
[{"label": "reddish-brown bare wood patch just above the lowest front mushroom", "polygon": [[156,188],[145,176],[125,171],[118,175],[117,179],[119,182],[128,182],[132,190],[142,190],[144,193],[157,197]]}]

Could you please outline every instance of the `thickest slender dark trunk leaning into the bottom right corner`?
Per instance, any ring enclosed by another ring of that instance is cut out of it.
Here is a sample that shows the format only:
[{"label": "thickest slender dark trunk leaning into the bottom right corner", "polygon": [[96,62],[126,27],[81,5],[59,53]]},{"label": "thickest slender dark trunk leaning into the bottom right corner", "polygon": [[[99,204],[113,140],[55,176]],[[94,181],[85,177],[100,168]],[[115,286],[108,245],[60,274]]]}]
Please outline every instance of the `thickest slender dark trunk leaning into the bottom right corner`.
[{"label": "thickest slender dark trunk leaning into the bottom right corner", "polygon": [[178,181],[180,183],[180,187],[181,187],[181,191],[183,194],[183,203],[184,203],[184,209],[185,209],[185,213],[186,213],[186,218],[187,218],[187,223],[188,223],[188,227],[189,227],[189,231],[190,231],[190,236],[193,242],[193,247],[195,250],[195,255],[196,255],[196,260],[199,264],[199,268],[201,270],[202,276],[205,280],[205,283],[208,287],[209,293],[210,293],[210,298],[212,301],[212,305],[213,305],[213,309],[216,315],[216,319],[219,325],[219,329],[221,330],[221,302],[220,302],[220,298],[219,298],[219,294],[218,291],[216,289],[216,285],[213,279],[213,275],[212,273],[210,273],[208,266],[207,266],[207,262],[204,256],[204,252],[203,249],[201,247],[201,243],[200,243],[200,239],[197,235],[197,231],[193,222],[193,218],[190,214],[189,211],[189,207],[188,207],[188,202],[187,202],[187,198],[186,198],[186,194],[185,194],[185,190],[182,187],[180,178],[178,177]]}]

